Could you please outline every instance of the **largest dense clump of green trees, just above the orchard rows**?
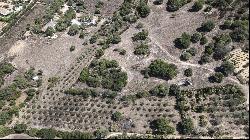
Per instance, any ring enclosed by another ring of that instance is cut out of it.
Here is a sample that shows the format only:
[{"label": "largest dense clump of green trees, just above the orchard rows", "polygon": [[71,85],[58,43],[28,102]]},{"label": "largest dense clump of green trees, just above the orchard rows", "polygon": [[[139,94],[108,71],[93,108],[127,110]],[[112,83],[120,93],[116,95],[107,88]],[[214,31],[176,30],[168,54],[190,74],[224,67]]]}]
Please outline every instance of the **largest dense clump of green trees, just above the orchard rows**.
[{"label": "largest dense clump of green trees, just above the orchard rows", "polygon": [[115,60],[101,59],[93,61],[89,68],[84,68],[79,80],[90,87],[101,86],[120,91],[127,84],[127,74],[121,71]]}]

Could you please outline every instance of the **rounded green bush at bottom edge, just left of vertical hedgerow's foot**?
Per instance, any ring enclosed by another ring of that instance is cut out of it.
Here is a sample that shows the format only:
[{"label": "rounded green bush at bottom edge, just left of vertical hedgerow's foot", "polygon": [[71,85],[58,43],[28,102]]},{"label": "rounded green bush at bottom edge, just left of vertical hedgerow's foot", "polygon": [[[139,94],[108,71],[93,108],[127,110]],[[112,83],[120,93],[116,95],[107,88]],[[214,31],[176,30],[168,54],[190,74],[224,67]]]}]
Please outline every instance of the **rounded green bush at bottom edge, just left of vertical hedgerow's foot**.
[{"label": "rounded green bush at bottom edge, just left of vertical hedgerow's foot", "polygon": [[175,132],[175,128],[170,125],[170,121],[165,118],[159,118],[151,122],[151,127],[155,134],[170,135]]}]

